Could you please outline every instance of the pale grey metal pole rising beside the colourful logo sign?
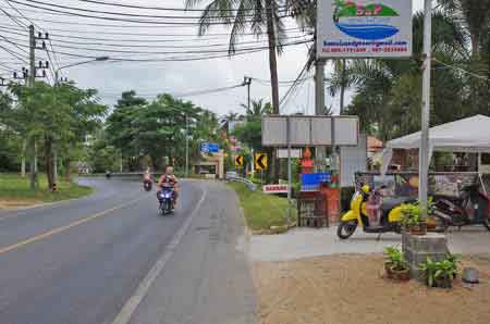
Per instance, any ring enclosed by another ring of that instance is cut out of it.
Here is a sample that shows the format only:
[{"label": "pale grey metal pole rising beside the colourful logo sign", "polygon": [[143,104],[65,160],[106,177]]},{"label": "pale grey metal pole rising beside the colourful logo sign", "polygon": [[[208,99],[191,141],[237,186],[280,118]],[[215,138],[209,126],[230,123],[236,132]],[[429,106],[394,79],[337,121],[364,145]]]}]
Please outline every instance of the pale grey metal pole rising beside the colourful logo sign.
[{"label": "pale grey metal pole rising beside the colourful logo sign", "polygon": [[429,119],[430,119],[430,68],[431,68],[432,1],[425,0],[424,18],[424,78],[421,107],[421,138],[419,150],[419,185],[418,199],[427,207],[429,182]]}]

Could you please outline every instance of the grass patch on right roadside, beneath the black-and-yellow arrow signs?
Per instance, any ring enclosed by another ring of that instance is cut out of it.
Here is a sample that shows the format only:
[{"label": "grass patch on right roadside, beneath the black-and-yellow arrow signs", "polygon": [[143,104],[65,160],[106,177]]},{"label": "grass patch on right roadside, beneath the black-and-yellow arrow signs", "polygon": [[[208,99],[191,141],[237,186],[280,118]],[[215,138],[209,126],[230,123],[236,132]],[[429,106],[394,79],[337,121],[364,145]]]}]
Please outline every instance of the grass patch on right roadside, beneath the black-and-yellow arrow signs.
[{"label": "grass patch on right roadside, beneath the black-and-yellow arrow signs", "polygon": [[[248,227],[255,233],[278,233],[289,229],[287,199],[261,191],[250,191],[245,185],[229,183],[240,198]],[[291,217],[295,220],[296,211]],[[275,228],[275,229],[273,229]]]}]

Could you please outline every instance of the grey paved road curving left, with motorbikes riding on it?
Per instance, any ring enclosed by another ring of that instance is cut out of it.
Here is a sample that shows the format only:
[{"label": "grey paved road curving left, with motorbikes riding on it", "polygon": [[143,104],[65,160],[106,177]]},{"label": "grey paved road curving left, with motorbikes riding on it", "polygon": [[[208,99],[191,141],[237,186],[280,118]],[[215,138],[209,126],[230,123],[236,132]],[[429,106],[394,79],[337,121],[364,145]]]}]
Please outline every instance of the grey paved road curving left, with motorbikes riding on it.
[{"label": "grey paved road curving left, with motorbikes riding on it", "polygon": [[243,222],[223,185],[184,182],[162,217],[139,183],[84,182],[97,194],[0,214],[0,323],[112,323],[162,256],[131,323],[253,323]]}]

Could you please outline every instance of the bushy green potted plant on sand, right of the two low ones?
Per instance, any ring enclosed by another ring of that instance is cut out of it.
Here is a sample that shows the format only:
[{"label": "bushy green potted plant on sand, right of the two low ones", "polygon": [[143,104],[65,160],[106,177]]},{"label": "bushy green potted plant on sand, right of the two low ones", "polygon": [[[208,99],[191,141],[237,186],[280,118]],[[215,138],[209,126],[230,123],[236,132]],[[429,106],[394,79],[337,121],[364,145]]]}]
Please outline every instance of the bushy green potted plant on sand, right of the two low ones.
[{"label": "bushy green potted plant on sand, right of the two low ones", "polygon": [[457,275],[457,265],[460,258],[454,254],[448,254],[444,260],[427,261],[420,264],[420,271],[428,287],[452,288],[453,281]]}]

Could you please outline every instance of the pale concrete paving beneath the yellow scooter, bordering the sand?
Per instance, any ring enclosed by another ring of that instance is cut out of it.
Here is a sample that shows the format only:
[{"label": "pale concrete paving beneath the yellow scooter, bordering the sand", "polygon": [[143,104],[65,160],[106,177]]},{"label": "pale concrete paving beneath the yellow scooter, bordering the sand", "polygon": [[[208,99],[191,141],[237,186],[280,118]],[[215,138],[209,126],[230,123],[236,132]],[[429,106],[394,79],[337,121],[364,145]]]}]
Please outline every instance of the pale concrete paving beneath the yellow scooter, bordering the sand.
[{"label": "pale concrete paving beneath the yellow scooter, bordering the sand", "polygon": [[[357,228],[353,237],[341,240],[336,227],[295,228],[281,235],[253,236],[249,240],[249,256],[255,261],[290,261],[304,258],[344,254],[380,253],[384,247],[402,244],[401,235],[365,234]],[[448,234],[450,250],[453,253],[488,254],[490,258],[490,232],[483,226],[451,228]]]}]

